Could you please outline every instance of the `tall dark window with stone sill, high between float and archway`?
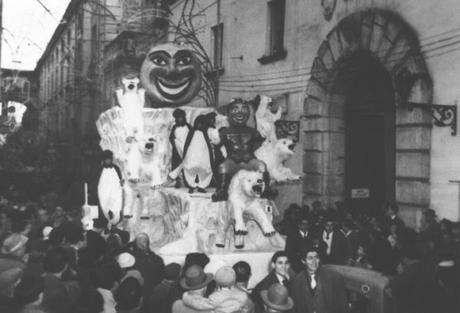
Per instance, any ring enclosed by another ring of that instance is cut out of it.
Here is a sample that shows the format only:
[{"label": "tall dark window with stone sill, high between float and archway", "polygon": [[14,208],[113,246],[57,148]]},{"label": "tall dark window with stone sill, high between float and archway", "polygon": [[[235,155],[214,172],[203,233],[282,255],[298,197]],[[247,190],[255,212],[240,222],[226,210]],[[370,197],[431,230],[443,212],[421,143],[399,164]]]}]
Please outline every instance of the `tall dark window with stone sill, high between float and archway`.
[{"label": "tall dark window with stone sill, high between float and archway", "polygon": [[258,61],[262,64],[284,59],[284,22],[286,0],[271,0],[267,12],[267,46],[265,55]]}]

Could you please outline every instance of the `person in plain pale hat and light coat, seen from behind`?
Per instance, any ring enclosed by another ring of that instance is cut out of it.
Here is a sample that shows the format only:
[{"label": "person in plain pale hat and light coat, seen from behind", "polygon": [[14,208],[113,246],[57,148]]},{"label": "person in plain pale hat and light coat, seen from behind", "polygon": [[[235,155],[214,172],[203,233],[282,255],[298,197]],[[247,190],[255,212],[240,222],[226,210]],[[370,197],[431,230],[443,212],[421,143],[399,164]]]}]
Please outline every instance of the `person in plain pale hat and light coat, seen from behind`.
[{"label": "person in plain pale hat and light coat, seen from behind", "polygon": [[248,294],[236,287],[236,273],[230,266],[223,266],[217,270],[214,277],[217,290],[209,299],[216,305],[216,311],[222,313],[254,312],[254,303]]}]

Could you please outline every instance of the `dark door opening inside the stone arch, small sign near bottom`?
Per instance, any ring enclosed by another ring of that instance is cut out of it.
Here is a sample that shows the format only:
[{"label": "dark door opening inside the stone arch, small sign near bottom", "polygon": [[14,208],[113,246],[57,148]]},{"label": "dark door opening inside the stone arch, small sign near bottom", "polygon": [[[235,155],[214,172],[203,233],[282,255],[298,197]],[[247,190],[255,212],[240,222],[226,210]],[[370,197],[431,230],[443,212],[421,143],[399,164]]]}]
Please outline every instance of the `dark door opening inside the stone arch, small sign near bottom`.
[{"label": "dark door opening inside the stone arch, small sign near bottom", "polygon": [[370,54],[347,58],[340,77],[347,79],[351,69],[344,112],[344,198],[355,209],[377,210],[395,200],[394,91],[388,71]]}]

